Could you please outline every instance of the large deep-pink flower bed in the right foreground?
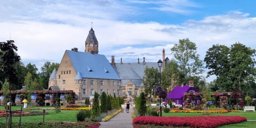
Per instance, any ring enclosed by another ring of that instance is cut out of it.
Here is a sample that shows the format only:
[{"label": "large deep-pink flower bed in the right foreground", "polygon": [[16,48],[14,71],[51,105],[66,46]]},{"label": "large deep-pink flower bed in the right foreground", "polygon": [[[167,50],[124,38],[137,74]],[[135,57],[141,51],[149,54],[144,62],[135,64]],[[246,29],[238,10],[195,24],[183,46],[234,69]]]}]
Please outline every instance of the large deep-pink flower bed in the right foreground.
[{"label": "large deep-pink flower bed in the right foreground", "polygon": [[243,116],[191,116],[191,117],[157,117],[138,116],[133,119],[133,126],[139,128],[140,125],[175,126],[192,128],[214,128],[231,123],[247,121]]}]

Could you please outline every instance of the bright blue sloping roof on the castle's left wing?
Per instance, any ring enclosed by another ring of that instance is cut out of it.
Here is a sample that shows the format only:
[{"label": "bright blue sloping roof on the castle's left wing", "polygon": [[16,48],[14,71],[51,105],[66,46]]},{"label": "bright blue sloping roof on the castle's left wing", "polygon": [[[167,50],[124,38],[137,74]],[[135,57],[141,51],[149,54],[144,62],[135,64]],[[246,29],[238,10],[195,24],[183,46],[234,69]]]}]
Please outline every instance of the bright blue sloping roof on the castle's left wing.
[{"label": "bright blue sloping roof on the castle's left wing", "polygon": [[[76,72],[82,78],[120,80],[116,71],[104,55],[66,50]],[[108,72],[107,72],[107,71]]]}]

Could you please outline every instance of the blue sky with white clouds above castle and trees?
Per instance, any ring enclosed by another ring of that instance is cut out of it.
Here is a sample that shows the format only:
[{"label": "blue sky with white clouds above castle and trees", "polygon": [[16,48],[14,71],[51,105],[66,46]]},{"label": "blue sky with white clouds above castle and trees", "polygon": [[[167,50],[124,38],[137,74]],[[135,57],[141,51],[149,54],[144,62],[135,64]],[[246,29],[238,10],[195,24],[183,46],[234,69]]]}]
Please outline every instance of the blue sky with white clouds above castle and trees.
[{"label": "blue sky with white clouds above castle and trees", "polygon": [[91,26],[99,54],[109,60],[157,62],[163,49],[173,59],[171,47],[184,38],[196,43],[203,60],[215,44],[256,49],[254,5],[256,0],[0,0],[0,41],[14,40],[22,62],[38,69],[46,61],[60,63],[73,47],[84,52]]}]

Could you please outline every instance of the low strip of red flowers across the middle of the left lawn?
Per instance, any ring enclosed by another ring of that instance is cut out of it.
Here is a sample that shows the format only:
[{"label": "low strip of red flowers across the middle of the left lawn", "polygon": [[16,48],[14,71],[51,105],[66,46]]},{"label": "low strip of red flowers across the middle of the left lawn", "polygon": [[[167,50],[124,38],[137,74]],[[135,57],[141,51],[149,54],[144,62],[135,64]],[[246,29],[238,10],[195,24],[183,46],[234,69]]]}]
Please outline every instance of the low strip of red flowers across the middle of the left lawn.
[{"label": "low strip of red flowers across the middle of the left lawn", "polygon": [[[45,112],[45,114],[49,114]],[[21,116],[38,116],[43,115],[42,111],[22,111]],[[13,111],[12,116],[20,116],[20,111]],[[0,111],[0,117],[6,117],[6,111]]]}]

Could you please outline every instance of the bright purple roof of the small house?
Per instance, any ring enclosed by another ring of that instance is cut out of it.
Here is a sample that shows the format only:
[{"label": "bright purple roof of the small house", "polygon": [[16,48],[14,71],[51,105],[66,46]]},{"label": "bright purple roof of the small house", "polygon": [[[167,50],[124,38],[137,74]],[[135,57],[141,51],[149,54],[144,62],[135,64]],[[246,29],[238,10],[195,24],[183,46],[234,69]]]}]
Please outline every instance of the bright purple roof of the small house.
[{"label": "bright purple roof of the small house", "polygon": [[[183,87],[175,86],[173,90],[171,90],[171,92],[167,95],[166,98],[181,99],[184,95],[184,92],[188,92],[188,90],[190,90],[191,88],[193,88],[193,90],[197,90],[196,88],[190,87],[189,85],[184,85]],[[195,92],[198,92],[198,90]]]}]

